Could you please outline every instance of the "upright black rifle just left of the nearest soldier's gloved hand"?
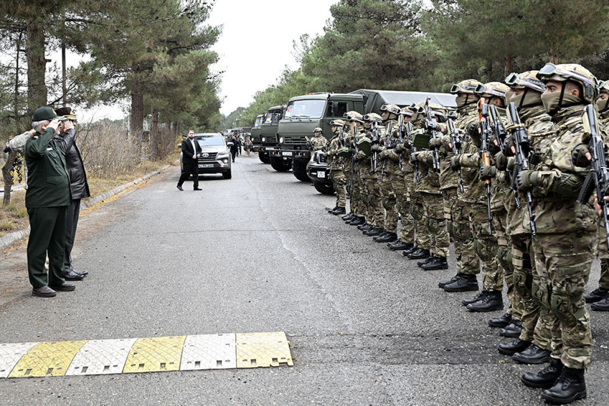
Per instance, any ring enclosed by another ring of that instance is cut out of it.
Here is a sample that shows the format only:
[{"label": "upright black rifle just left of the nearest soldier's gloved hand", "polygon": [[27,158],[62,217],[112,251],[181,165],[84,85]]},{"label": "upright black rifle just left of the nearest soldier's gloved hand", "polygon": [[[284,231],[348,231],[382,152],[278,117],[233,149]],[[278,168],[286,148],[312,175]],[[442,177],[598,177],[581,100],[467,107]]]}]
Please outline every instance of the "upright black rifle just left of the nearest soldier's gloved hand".
[{"label": "upright black rifle just left of the nearest soldier's gloved hand", "polygon": [[[530,138],[526,128],[520,122],[520,117],[516,112],[516,105],[512,102],[507,107],[507,112],[510,117],[510,125],[507,130],[512,133],[514,140],[514,149],[516,150],[516,164],[512,172],[512,181],[510,185],[514,192],[514,201],[516,207],[521,208],[520,198],[518,197],[518,187],[516,187],[515,180],[518,178],[518,173],[521,170],[529,170],[529,153],[530,153]],[[531,234],[537,235],[537,226],[535,225],[535,214],[533,214],[533,195],[530,191],[524,192],[524,197],[527,200],[527,208],[529,209],[529,225],[531,228]]]}]

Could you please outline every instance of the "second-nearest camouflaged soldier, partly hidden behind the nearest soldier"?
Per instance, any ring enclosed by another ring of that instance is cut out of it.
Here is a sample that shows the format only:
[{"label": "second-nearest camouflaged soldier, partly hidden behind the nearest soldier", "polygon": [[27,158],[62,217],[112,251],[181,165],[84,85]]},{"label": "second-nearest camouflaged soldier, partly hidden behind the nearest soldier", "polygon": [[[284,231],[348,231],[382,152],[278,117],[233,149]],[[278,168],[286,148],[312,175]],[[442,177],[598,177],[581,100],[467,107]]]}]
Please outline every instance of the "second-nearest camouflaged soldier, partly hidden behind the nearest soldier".
[{"label": "second-nearest camouflaged soldier, partly hidden behind the nearest soldier", "polygon": [[[530,138],[530,150],[539,151],[541,141],[550,135],[549,128],[552,127],[551,117],[546,113],[541,102],[541,94],[546,86],[537,79],[537,71],[523,72],[522,74],[511,74],[505,79],[510,86],[509,102],[515,104],[519,114],[520,122],[526,127]],[[508,167],[506,156],[512,156],[513,138],[508,135],[505,138],[504,152],[499,152],[496,157],[497,169],[505,170]],[[536,156],[530,159],[530,164],[537,164]],[[510,158],[513,161],[514,158]],[[513,163],[509,165],[512,167]],[[511,175],[511,173],[510,173]],[[513,285],[515,293],[510,302],[513,305],[513,320],[508,330],[516,333],[521,332],[516,340],[511,343],[499,344],[499,352],[512,355],[512,358],[521,363],[543,363],[549,360],[549,345],[551,341],[551,326],[548,320],[548,312],[543,303],[533,297],[533,284],[547,284],[541,281],[540,275],[535,270],[535,262],[532,261],[531,234],[530,229],[524,228],[523,217],[526,210],[526,197],[519,194],[521,207],[516,206],[512,191],[507,189],[505,203],[508,212],[508,225],[506,234],[510,236],[512,246]],[[505,273],[507,280],[507,271]],[[519,314],[518,314],[519,313]],[[519,327],[519,328],[517,328]],[[510,354],[511,353],[511,354]]]}]

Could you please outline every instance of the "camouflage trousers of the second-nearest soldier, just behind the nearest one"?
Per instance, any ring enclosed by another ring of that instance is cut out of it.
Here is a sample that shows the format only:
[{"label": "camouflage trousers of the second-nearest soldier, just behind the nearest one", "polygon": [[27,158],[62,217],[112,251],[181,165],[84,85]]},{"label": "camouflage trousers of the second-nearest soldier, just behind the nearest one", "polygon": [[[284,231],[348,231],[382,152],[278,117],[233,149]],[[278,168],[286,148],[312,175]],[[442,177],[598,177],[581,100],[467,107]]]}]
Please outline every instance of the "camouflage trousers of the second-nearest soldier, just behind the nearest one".
[{"label": "camouflage trousers of the second-nearest soldier, just behind the nearest one", "polygon": [[522,312],[519,320],[523,325],[520,339],[532,341],[539,348],[549,349],[552,341],[549,313],[544,304],[533,296],[533,289],[538,290],[540,285],[547,285],[548,282],[547,278],[541,279],[545,273],[538,273],[535,269],[534,258],[530,234],[513,235],[513,282]]}]

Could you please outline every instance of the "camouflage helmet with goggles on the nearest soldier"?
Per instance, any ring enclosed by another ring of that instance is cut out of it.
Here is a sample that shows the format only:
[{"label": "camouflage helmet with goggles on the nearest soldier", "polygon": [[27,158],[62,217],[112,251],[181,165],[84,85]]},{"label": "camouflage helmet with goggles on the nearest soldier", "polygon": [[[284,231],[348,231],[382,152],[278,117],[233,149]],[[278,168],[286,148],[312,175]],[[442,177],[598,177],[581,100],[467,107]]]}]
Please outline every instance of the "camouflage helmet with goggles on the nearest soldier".
[{"label": "camouflage helmet with goggles on the nearest soldier", "polygon": [[537,79],[543,83],[550,80],[576,82],[582,85],[583,94],[581,99],[588,103],[594,103],[599,96],[599,80],[588,69],[577,63],[561,63],[560,65],[546,63],[546,66],[537,72]]}]

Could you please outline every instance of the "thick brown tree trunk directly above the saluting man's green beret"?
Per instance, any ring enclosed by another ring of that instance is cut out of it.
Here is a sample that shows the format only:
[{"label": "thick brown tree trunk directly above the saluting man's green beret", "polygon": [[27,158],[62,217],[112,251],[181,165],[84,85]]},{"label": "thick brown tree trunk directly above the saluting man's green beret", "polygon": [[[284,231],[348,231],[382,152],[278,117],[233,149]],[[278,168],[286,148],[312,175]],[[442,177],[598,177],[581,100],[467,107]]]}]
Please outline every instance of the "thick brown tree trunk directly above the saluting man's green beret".
[{"label": "thick brown tree trunk directly above the saluting man's green beret", "polygon": [[27,113],[30,116],[38,107],[46,106],[45,73],[44,23],[40,20],[29,21],[27,24]]}]

